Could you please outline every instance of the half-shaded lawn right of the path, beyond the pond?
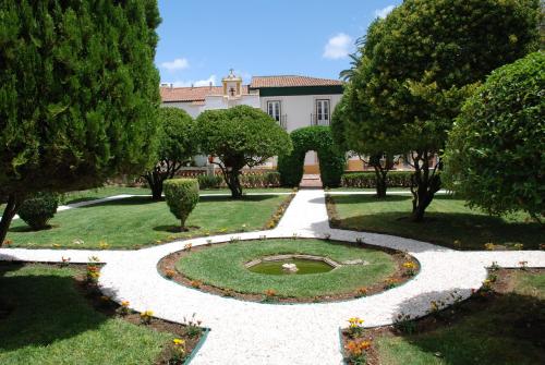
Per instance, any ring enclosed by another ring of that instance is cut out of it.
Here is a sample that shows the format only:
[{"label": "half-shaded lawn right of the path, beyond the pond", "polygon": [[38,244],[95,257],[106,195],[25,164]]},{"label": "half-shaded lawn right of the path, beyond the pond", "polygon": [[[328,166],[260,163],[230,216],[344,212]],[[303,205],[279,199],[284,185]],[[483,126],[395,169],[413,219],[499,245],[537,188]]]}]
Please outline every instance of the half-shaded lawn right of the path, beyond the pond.
[{"label": "half-shaded lawn right of the path, beyond the pond", "polygon": [[[388,233],[461,250],[484,250],[488,242],[506,246],[522,243],[524,248],[536,250],[545,242],[540,224],[528,222],[522,212],[491,217],[447,195],[435,196],[421,223],[409,219],[411,196],[377,199],[365,195],[330,195],[330,199],[342,229]],[[461,246],[455,245],[457,240]]]}]

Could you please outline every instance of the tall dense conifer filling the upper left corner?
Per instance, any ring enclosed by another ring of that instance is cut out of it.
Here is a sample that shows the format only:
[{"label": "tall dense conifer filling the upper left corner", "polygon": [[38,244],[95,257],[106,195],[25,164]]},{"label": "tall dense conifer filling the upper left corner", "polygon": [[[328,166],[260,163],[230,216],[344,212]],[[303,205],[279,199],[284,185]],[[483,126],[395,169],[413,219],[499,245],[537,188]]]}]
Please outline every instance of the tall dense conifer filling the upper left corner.
[{"label": "tall dense conifer filling the upper left corner", "polygon": [[156,0],[3,0],[0,244],[36,191],[141,173],[154,155]]}]

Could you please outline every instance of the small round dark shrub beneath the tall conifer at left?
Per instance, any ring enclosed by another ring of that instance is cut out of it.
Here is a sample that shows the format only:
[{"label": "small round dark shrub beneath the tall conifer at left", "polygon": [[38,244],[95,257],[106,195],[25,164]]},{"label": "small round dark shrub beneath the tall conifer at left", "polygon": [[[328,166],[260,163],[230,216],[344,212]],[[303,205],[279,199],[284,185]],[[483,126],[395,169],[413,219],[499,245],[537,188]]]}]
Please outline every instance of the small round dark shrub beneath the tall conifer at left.
[{"label": "small round dark shrub beneath the tall conifer at left", "polygon": [[58,207],[59,195],[43,192],[25,199],[17,214],[33,230],[43,230],[48,227],[47,222],[53,218]]}]

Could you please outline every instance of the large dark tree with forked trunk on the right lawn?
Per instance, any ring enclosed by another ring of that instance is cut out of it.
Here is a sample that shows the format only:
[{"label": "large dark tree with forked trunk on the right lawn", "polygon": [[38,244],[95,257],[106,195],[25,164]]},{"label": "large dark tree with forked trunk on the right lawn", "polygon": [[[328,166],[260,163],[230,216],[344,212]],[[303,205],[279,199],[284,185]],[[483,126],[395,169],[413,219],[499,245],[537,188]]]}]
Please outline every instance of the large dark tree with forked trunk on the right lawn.
[{"label": "large dark tree with forked trunk on the right lawn", "polygon": [[435,158],[462,101],[492,70],[536,49],[538,14],[538,0],[405,0],[374,27],[356,100],[411,151],[413,220],[441,186]]}]

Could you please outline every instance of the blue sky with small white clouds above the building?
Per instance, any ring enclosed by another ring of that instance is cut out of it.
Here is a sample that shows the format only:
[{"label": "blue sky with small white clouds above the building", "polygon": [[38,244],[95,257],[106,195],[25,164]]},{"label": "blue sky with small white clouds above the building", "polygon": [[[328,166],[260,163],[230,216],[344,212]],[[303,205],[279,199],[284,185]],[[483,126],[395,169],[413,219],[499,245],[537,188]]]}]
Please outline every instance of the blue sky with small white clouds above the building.
[{"label": "blue sky with small white clouds above the building", "polygon": [[219,85],[252,76],[338,78],[354,40],[401,0],[159,0],[161,83]]}]

